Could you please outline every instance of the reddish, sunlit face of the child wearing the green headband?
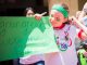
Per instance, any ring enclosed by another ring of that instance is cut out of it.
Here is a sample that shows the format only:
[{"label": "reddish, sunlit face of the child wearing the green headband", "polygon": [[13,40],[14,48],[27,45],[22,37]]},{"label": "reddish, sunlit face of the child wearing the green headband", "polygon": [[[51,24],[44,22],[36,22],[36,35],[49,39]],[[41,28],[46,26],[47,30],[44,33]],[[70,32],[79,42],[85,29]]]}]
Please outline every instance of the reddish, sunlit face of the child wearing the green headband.
[{"label": "reddish, sunlit face of the child wearing the green headband", "polygon": [[61,26],[64,22],[66,22],[66,18],[61,12],[58,12],[57,10],[51,10],[50,12],[50,22],[53,27]]}]

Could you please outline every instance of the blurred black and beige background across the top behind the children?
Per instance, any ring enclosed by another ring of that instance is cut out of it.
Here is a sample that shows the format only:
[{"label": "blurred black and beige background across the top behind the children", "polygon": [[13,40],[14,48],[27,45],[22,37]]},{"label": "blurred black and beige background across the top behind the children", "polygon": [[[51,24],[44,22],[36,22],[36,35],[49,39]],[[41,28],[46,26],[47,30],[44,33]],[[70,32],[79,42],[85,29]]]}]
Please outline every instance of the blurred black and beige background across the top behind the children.
[{"label": "blurred black and beige background across the top behind the children", "polygon": [[70,15],[82,10],[87,0],[0,0],[0,16],[24,16],[24,10],[32,6],[35,13],[48,12],[52,4],[65,2],[70,8]]}]

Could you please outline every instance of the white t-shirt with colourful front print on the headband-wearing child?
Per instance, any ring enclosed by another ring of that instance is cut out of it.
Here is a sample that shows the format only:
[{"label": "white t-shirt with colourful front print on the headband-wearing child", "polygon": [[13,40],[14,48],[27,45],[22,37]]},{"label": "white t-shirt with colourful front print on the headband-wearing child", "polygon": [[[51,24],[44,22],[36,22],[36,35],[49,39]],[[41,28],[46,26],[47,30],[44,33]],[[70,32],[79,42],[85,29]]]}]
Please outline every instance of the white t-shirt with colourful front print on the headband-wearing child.
[{"label": "white t-shirt with colourful front print on the headband-wearing child", "polygon": [[[54,29],[54,34],[60,50],[60,54],[55,56],[55,61],[59,63],[58,65],[77,65],[77,54],[74,43],[76,28],[71,25],[65,25],[62,29]],[[66,35],[67,40],[65,40]]]}]

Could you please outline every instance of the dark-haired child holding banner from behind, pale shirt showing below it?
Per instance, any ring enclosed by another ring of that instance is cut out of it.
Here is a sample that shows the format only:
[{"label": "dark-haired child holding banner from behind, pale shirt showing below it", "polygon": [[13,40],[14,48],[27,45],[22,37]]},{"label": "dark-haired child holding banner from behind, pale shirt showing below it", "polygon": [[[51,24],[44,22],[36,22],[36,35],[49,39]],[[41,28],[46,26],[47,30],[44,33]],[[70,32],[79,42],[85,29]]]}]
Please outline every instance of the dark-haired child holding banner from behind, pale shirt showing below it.
[{"label": "dark-haired child holding banner from behind, pale shirt showing below it", "polygon": [[[37,16],[32,8],[25,10],[26,17]],[[39,20],[38,17],[36,17]],[[32,56],[20,57],[20,64],[22,65],[45,65],[42,54],[36,54]]]}]

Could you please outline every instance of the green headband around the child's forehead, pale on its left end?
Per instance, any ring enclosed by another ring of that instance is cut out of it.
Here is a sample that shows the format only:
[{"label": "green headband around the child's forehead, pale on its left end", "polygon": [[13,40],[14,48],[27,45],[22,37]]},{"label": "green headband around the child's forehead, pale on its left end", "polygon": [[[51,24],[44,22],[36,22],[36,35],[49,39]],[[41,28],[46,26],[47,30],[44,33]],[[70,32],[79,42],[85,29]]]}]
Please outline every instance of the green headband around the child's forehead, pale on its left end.
[{"label": "green headband around the child's forehead, pale on its left end", "polygon": [[69,12],[63,6],[61,6],[59,4],[54,4],[52,6],[52,10],[57,10],[57,11],[61,12],[64,15],[64,17],[69,16]]}]

